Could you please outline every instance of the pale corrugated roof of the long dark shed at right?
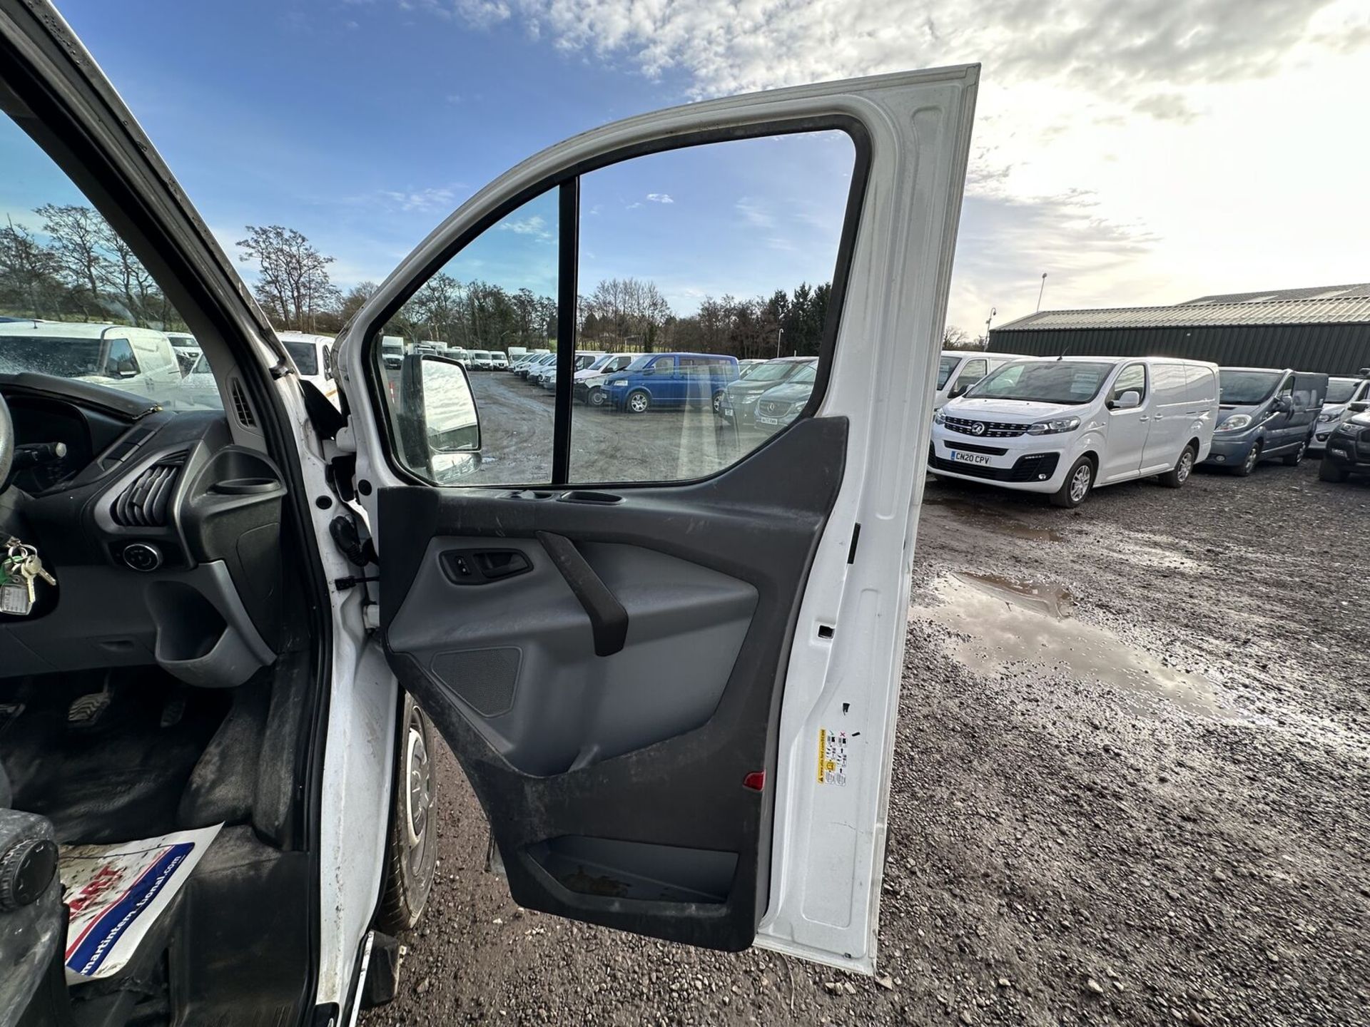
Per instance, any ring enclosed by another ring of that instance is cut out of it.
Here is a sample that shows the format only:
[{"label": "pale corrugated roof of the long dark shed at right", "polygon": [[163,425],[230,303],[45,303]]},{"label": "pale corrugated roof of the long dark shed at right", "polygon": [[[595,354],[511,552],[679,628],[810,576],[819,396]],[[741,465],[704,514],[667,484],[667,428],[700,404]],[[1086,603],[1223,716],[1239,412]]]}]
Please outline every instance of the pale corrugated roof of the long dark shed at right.
[{"label": "pale corrugated roof of the long dark shed at right", "polygon": [[1204,303],[1175,307],[1114,307],[1088,311],[1041,311],[995,331],[1051,329],[1212,327],[1219,325],[1363,325],[1370,323],[1370,296],[1275,303]]}]

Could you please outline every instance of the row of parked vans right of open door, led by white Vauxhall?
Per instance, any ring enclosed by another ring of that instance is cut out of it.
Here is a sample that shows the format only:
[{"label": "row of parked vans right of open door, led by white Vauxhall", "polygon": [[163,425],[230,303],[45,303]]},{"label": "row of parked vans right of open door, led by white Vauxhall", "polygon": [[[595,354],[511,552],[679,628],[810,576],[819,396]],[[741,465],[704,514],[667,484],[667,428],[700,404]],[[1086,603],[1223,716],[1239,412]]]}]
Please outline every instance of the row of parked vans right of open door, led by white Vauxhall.
[{"label": "row of parked vans right of open door, led by white Vauxhall", "polygon": [[[1360,389],[1355,379],[1337,394]],[[1303,460],[1328,423],[1328,392],[1326,374],[1292,368],[1170,357],[1014,359],[934,415],[929,470],[1047,493],[1062,507],[1137,478],[1180,487],[1199,463],[1245,477],[1262,460]],[[1344,415],[1336,416],[1340,423]]]}]

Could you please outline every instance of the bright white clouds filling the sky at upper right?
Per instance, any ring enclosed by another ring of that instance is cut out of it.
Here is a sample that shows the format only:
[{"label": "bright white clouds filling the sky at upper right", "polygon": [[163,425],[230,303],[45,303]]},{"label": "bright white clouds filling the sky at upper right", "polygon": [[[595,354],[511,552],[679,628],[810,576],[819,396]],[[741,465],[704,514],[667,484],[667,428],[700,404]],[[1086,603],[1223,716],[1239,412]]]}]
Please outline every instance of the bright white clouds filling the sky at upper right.
[{"label": "bright white clouds filling the sky at upper right", "polygon": [[[436,3],[436,0],[432,0]],[[470,8],[470,10],[469,10]],[[486,8],[496,8],[492,15]],[[1356,281],[1370,267],[1365,0],[504,0],[556,48],[692,97],[984,66],[951,319]],[[748,223],[775,215],[755,197]]]}]

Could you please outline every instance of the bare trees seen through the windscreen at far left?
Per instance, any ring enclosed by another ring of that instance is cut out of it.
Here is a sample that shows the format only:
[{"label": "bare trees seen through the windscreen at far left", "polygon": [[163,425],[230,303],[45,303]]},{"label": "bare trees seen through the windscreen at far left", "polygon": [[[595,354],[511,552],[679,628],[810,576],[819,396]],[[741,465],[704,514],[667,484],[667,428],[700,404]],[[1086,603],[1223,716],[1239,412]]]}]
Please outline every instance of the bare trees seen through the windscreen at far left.
[{"label": "bare trees seen through the windscreen at far left", "polygon": [[0,226],[0,314],[184,329],[127,244],[90,207],[36,207],[42,231]]}]

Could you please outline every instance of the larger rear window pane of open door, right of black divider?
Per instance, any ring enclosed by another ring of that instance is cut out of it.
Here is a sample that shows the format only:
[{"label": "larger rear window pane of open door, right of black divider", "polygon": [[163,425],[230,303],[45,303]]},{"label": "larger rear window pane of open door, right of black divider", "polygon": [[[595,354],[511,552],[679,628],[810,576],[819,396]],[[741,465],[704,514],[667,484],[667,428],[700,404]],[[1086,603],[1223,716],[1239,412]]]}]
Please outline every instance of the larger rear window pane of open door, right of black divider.
[{"label": "larger rear window pane of open door, right of black divider", "polygon": [[818,356],[854,166],[845,133],[811,131],[581,178],[581,341],[677,353],[680,371],[629,364],[577,389],[573,482],[700,478],[797,419],[817,375],[738,381],[737,362]]}]

